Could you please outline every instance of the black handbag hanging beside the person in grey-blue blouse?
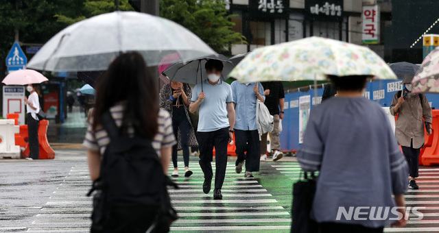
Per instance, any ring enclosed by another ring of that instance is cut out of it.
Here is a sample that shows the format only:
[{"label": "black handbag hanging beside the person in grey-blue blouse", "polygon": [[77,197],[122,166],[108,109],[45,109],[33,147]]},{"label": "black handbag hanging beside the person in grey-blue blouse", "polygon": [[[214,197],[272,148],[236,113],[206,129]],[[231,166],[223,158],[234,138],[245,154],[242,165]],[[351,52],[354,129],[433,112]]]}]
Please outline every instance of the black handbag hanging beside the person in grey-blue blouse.
[{"label": "black handbag hanging beside the person in grey-blue blouse", "polygon": [[304,180],[293,184],[292,233],[318,232],[318,223],[311,219],[316,182],[317,177],[314,173],[311,173],[310,177],[304,173]]}]

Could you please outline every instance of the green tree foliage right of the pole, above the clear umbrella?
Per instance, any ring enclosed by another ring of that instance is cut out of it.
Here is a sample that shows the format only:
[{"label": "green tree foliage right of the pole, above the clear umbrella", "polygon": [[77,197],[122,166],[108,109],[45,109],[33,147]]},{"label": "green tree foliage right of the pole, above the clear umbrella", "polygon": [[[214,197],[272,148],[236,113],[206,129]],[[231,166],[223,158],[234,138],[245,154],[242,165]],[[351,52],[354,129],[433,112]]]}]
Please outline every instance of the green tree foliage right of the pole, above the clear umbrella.
[{"label": "green tree foliage right of the pole, above the clear umbrella", "polygon": [[244,42],[233,32],[224,0],[160,0],[160,16],[191,30],[217,52]]}]

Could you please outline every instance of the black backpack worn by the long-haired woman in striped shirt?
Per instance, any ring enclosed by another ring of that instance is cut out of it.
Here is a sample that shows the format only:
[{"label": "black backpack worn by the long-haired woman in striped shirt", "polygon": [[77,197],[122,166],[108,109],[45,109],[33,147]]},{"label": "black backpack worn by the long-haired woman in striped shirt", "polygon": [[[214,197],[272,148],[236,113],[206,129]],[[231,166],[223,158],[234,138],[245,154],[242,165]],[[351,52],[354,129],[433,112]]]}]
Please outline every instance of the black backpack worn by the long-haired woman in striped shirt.
[{"label": "black backpack worn by the long-haired woman in striped shirt", "polygon": [[[88,193],[97,191],[93,197],[91,232],[169,232],[177,215],[171,207],[167,185],[178,187],[164,175],[152,142],[137,136],[119,136],[110,112],[102,116],[102,125],[110,136],[110,144],[103,156],[99,179]],[[142,214],[151,210],[157,211],[152,224],[133,220],[144,219]]]}]

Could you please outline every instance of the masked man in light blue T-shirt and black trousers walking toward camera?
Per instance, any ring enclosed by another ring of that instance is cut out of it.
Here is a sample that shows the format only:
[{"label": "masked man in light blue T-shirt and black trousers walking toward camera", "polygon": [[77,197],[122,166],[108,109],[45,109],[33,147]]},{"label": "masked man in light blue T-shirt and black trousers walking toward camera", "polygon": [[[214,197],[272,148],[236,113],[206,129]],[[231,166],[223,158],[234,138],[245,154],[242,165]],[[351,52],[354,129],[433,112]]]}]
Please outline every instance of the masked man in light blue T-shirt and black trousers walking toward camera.
[{"label": "masked man in light blue T-shirt and black trousers walking toward camera", "polygon": [[190,112],[200,108],[198,120],[198,145],[200,145],[200,167],[204,173],[203,192],[211,191],[213,177],[212,160],[215,146],[215,189],[213,199],[222,199],[221,188],[227,167],[227,145],[233,139],[235,108],[232,88],[219,79],[224,65],[219,60],[205,64],[207,79],[193,88]]}]

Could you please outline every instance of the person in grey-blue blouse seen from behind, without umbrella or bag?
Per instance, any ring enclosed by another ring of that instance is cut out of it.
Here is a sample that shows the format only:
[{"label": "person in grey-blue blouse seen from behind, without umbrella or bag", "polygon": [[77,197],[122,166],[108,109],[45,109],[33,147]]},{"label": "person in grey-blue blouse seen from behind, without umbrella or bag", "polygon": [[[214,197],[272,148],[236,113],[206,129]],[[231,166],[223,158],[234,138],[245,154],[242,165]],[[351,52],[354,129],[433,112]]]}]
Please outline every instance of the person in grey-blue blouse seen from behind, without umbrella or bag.
[{"label": "person in grey-blue blouse seen from behind, without umbrella or bag", "polygon": [[311,218],[321,232],[406,223],[407,162],[383,109],[362,97],[367,78],[329,76],[338,95],[313,108],[298,151],[304,171],[320,171]]}]

